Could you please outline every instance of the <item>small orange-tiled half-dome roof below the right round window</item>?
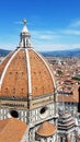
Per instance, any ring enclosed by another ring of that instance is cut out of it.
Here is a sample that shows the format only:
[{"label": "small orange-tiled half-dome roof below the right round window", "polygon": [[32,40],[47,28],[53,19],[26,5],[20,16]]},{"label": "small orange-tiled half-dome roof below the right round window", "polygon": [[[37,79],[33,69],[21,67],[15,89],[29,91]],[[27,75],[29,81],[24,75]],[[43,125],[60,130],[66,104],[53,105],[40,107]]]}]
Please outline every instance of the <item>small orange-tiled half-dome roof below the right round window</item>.
[{"label": "small orange-tiled half-dome roof below the right round window", "polygon": [[55,134],[57,128],[53,123],[45,121],[36,131],[41,137],[49,137]]}]

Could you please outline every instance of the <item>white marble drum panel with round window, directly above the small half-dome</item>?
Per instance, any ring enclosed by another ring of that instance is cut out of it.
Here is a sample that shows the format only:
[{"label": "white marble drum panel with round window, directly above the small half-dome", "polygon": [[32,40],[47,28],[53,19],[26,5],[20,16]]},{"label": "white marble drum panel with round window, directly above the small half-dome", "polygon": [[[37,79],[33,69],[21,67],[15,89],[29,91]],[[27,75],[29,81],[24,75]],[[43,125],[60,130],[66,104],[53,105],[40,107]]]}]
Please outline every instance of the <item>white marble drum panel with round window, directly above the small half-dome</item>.
[{"label": "white marble drum panel with round window, directly above the small half-dome", "polygon": [[34,125],[37,125],[50,118],[54,118],[54,117],[56,118],[57,117],[56,109],[57,109],[57,106],[55,103],[53,103],[53,104],[48,104],[43,107],[31,110],[30,111],[31,127],[34,127]]}]

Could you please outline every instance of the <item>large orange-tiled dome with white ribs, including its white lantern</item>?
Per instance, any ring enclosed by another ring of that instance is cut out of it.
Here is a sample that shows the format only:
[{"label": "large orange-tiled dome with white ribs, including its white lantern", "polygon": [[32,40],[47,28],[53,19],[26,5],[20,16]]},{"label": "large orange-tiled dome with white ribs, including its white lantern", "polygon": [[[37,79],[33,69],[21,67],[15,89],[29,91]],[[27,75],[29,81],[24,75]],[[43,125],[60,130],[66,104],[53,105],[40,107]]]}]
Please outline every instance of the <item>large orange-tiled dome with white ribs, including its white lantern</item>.
[{"label": "large orange-tiled dome with white ribs, including its white lantern", "polygon": [[24,27],[20,34],[19,48],[10,52],[0,64],[0,97],[27,99],[53,94],[55,81],[50,67],[30,43],[30,33]]}]

